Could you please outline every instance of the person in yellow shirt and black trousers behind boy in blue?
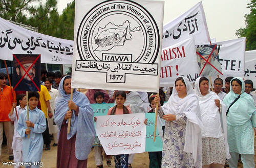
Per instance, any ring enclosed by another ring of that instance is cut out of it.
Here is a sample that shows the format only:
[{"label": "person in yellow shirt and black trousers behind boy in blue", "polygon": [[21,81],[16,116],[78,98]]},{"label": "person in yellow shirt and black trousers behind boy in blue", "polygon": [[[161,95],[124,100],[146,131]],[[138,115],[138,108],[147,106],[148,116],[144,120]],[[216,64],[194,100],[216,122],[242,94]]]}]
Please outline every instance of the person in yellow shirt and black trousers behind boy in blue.
[{"label": "person in yellow shirt and black trousers behind boy in blue", "polygon": [[42,133],[42,137],[44,138],[44,144],[46,145],[45,150],[48,151],[50,150],[50,134],[49,134],[49,127],[48,127],[48,121],[47,118],[52,118],[53,114],[51,111],[51,106],[50,106],[50,99],[51,96],[47,90],[47,88],[44,85],[41,85],[41,91],[38,91],[39,93],[39,102],[41,106],[41,110],[45,113],[46,116],[46,130],[45,132]]}]

